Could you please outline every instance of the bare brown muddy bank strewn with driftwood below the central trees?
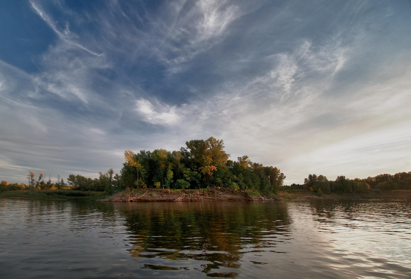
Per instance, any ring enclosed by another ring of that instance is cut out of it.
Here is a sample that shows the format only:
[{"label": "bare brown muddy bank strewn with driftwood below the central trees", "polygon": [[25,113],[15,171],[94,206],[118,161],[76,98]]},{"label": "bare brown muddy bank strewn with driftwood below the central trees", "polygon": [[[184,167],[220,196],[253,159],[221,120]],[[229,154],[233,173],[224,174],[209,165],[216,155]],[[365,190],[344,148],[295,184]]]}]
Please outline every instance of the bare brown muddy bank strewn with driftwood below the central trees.
[{"label": "bare brown muddy bank strewn with driftwood below the central trees", "polygon": [[205,200],[283,200],[279,197],[261,197],[250,195],[244,190],[229,188],[207,188],[195,190],[169,189],[133,189],[120,192],[110,198],[99,200],[103,202],[198,202]]}]

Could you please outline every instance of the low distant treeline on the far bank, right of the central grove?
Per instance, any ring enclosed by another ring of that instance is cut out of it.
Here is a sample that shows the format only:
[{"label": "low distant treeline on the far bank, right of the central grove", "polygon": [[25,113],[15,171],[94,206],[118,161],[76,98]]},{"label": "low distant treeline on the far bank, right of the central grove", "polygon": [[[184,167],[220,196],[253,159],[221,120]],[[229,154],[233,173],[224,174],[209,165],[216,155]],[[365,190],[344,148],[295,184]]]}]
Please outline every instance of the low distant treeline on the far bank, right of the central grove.
[{"label": "low distant treeline on the far bank, right of the central grove", "polygon": [[309,174],[308,178],[304,179],[304,184],[291,184],[290,186],[283,186],[281,189],[304,189],[324,193],[367,193],[370,189],[411,190],[411,172],[398,172],[394,175],[379,174],[364,179],[348,179],[341,175],[334,181],[328,180],[323,175]]}]

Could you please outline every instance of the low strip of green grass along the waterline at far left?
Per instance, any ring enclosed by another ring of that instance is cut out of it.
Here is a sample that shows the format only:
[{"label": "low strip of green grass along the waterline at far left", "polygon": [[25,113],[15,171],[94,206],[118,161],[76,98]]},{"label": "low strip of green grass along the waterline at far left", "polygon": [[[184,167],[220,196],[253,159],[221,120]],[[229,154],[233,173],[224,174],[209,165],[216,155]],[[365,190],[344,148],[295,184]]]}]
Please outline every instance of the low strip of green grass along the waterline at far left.
[{"label": "low strip of green grass along the waterline at far left", "polygon": [[75,191],[75,190],[18,190],[5,191],[0,197],[66,199],[66,200],[97,200],[109,196],[105,192]]}]

